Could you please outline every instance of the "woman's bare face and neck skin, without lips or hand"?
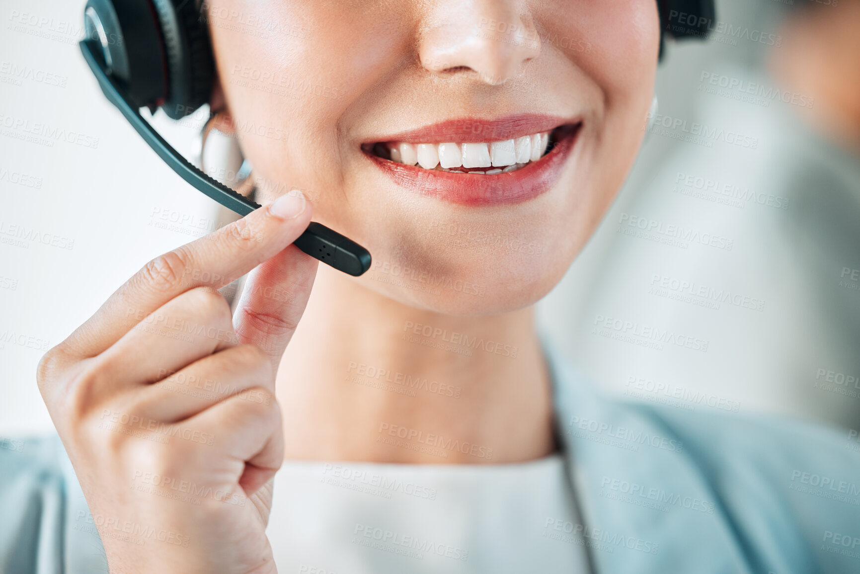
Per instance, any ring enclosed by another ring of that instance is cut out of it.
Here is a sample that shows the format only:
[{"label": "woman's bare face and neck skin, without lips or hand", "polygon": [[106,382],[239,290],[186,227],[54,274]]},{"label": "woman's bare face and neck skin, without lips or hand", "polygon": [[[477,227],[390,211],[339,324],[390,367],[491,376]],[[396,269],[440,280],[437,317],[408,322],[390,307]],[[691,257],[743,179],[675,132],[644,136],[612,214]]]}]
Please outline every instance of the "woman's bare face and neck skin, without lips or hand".
[{"label": "woman's bare face and neck skin, without lips or hand", "polygon": [[[210,15],[226,108],[255,176],[307,190],[315,220],[374,259],[358,279],[320,266],[278,376],[287,458],[485,463],[548,454],[550,383],[531,305],[582,249],[641,143],[658,52],[655,3],[234,5],[261,21],[301,27],[264,38],[251,25],[220,25],[229,15]],[[255,81],[263,74],[270,79]],[[290,89],[297,82],[337,97]],[[281,95],[261,89],[272,84]],[[581,117],[583,127],[555,188],[515,206],[460,207],[410,194],[360,149],[442,120],[528,112]],[[247,128],[261,125],[289,137],[261,138]],[[486,238],[519,239],[532,249],[494,248]],[[413,279],[396,285],[397,265],[470,283],[482,294],[433,293]],[[464,356],[404,341],[410,324],[501,342],[517,356]],[[355,384],[361,365],[462,392],[457,399],[408,396]],[[380,429],[394,425],[494,455],[440,457],[378,441]]]}]

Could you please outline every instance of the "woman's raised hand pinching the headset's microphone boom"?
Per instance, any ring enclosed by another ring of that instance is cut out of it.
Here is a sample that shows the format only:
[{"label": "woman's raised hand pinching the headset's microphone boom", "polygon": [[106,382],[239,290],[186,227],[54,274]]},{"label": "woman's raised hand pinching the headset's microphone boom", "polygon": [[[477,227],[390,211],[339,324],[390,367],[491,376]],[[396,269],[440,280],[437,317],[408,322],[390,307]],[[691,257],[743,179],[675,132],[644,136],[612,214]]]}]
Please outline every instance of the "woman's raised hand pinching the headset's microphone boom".
[{"label": "woman's raised hand pinching the headset's microphone boom", "polygon": [[[291,192],[157,257],[40,361],[114,574],[276,571],[274,375],[316,275],[292,245],[309,222]],[[233,318],[216,289],[252,269]]]}]

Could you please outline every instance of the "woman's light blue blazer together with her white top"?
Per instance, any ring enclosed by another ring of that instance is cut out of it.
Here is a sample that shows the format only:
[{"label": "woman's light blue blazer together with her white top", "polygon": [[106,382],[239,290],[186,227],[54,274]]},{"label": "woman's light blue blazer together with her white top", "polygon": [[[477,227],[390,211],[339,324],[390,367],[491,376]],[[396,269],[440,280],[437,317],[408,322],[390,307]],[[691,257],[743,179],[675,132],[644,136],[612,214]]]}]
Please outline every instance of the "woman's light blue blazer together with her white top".
[{"label": "woman's light blue blazer together with her white top", "polygon": [[[856,431],[618,401],[544,348],[560,456],[288,463],[279,573],[857,574]],[[58,435],[0,438],[0,571],[107,572],[88,515]]]}]

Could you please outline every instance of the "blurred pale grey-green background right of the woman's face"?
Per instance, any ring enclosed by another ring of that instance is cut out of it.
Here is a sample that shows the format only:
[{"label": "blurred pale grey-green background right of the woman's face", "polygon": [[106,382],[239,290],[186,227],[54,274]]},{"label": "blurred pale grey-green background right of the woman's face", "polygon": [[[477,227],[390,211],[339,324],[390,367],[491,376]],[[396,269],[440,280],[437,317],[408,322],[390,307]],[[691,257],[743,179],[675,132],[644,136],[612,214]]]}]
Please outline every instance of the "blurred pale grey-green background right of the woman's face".
[{"label": "blurred pale grey-green background right of the woman's face", "polygon": [[[774,62],[806,64],[796,56],[807,46],[783,29],[808,8],[795,3],[718,0],[708,42],[669,47],[636,167],[540,317],[583,373],[629,398],[857,429],[860,157],[820,134],[827,102],[814,86],[769,75]],[[640,231],[634,217],[658,232],[620,233]],[[670,225],[716,246],[656,243]],[[635,325],[627,334],[695,337],[707,351],[609,338],[622,331],[601,332],[599,318]]]}]

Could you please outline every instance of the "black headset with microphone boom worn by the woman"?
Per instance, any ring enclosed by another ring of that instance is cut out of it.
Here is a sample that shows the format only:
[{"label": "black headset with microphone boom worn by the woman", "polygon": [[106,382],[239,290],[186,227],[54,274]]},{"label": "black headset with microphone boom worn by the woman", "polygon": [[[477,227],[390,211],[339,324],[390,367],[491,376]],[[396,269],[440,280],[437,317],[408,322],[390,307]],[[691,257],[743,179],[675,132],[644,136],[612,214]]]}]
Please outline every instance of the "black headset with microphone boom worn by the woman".
[{"label": "black headset with microphone boom worn by the woman", "polygon": [[[657,0],[663,40],[707,36],[714,0]],[[178,120],[212,96],[215,62],[201,0],[88,0],[83,12],[84,59],[107,99],[177,174],[240,215],[260,207],[189,164],[138,110],[162,108]],[[295,241],[310,256],[349,275],[371,265],[365,248],[313,222]]]}]

